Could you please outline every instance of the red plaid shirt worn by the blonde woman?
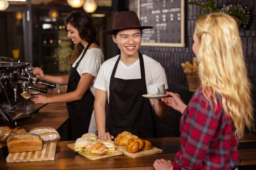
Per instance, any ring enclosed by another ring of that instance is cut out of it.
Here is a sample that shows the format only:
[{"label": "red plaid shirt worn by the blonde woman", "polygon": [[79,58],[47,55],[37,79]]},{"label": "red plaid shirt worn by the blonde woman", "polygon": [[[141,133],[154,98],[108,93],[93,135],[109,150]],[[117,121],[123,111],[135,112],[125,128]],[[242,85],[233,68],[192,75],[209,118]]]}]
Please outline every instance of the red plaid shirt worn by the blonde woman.
[{"label": "red plaid shirt worn by the blonde woman", "polygon": [[216,98],[216,110],[202,88],[190,100],[180,119],[181,150],[175,156],[174,170],[229,170],[239,164],[233,121],[225,115],[220,95]]}]

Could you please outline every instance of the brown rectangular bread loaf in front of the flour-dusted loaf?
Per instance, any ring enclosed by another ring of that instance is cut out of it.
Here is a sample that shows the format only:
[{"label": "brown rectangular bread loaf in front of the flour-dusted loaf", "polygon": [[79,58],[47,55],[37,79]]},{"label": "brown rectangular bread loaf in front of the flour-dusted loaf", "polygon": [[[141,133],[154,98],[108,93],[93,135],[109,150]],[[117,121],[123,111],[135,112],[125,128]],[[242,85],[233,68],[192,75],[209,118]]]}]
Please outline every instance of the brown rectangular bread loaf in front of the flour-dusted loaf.
[{"label": "brown rectangular bread loaf in front of the flour-dusted loaf", "polygon": [[9,153],[39,151],[43,149],[42,139],[35,133],[16,133],[7,139]]}]

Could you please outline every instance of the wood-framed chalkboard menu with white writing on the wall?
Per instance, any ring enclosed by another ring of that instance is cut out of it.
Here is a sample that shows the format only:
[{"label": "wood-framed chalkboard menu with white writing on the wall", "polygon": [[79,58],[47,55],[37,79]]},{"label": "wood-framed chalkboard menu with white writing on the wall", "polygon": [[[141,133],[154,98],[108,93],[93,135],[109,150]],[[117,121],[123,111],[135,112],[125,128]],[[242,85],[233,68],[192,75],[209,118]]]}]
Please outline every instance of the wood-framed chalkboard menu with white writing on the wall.
[{"label": "wood-framed chalkboard menu with white writing on the wall", "polygon": [[138,0],[145,46],[185,47],[184,0]]}]

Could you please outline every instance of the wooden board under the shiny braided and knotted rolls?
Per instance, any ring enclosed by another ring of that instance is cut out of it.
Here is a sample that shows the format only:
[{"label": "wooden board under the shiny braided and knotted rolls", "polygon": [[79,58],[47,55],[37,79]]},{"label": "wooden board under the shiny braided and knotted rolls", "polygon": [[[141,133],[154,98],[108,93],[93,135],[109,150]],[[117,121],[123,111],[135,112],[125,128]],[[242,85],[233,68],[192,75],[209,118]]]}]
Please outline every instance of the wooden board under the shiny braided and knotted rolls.
[{"label": "wooden board under the shiny braided and knotted rolls", "polygon": [[138,150],[135,153],[128,153],[126,150],[126,146],[118,146],[118,150],[121,150],[122,152],[124,152],[125,155],[130,156],[131,158],[139,158],[142,156],[148,156],[163,152],[163,150],[158,149],[157,147],[154,146],[152,146],[152,148],[149,150]]}]

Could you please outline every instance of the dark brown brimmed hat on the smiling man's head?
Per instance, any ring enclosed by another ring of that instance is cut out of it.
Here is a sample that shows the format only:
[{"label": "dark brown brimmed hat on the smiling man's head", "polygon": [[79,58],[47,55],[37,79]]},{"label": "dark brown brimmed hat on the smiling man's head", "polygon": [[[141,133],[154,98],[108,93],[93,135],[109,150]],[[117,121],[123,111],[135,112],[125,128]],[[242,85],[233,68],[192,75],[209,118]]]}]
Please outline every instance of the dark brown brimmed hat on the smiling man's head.
[{"label": "dark brown brimmed hat on the smiling man's head", "polygon": [[108,29],[102,32],[102,34],[113,34],[116,30],[126,29],[126,28],[139,28],[139,29],[149,29],[154,28],[151,26],[141,26],[140,20],[135,11],[122,11],[117,12],[114,17],[112,29]]}]

